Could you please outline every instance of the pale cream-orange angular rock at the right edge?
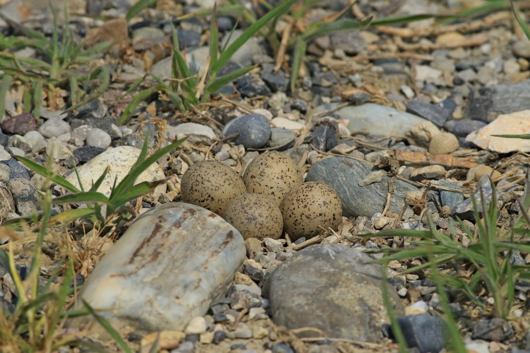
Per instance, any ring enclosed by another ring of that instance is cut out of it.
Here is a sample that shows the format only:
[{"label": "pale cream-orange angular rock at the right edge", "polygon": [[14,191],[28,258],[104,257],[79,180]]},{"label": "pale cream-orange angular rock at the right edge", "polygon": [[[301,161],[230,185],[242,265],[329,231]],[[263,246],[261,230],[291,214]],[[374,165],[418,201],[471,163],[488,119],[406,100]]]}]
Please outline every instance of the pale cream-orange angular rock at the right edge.
[{"label": "pale cream-orange angular rock at the right edge", "polygon": [[530,133],[530,110],[524,110],[499,115],[497,119],[480,130],[471,132],[465,140],[482,149],[493,152],[530,152],[530,140],[491,136],[492,134],[509,135],[528,133]]}]

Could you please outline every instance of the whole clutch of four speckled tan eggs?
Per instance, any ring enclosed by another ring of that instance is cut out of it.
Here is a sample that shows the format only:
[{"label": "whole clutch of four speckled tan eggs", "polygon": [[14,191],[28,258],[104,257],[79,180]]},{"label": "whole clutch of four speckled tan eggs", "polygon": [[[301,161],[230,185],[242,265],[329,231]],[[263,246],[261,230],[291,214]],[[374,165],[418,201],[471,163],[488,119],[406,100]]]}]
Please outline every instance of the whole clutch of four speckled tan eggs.
[{"label": "whole clutch of four speckled tan eggs", "polygon": [[293,159],[276,151],[254,158],[243,178],[222,162],[197,162],[182,176],[181,195],[222,216],[244,239],[278,239],[284,232],[293,241],[309,239],[342,221],[337,193],[323,183],[303,183]]}]

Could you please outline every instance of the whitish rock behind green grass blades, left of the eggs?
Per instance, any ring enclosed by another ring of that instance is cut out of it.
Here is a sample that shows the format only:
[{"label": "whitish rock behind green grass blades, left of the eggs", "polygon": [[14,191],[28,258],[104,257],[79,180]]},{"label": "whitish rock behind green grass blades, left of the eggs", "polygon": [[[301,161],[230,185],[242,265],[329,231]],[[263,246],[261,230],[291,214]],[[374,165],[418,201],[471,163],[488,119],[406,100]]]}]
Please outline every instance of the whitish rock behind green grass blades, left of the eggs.
[{"label": "whitish rock behind green grass blades, left of the eggs", "polygon": [[[103,174],[105,168],[110,166],[109,173],[103,179],[98,188],[98,192],[109,196],[114,185],[114,178],[117,178],[116,185],[118,185],[123,178],[129,173],[130,169],[136,163],[138,156],[140,155],[140,150],[132,146],[120,146],[106,150],[98,156],[92,158],[85,165],[79,167],[77,170],[79,172],[79,177],[81,183],[85,190],[90,189],[92,183],[98,180],[98,178]],[[142,174],[136,178],[135,184],[142,182],[152,182],[153,180],[164,179],[165,175],[158,163],[153,163],[149,168],[143,171]],[[79,182],[77,181],[77,176],[75,173],[72,173],[66,177],[68,182],[72,183],[75,187],[79,188]],[[155,188],[155,193],[165,193],[166,185],[161,184]]]}]

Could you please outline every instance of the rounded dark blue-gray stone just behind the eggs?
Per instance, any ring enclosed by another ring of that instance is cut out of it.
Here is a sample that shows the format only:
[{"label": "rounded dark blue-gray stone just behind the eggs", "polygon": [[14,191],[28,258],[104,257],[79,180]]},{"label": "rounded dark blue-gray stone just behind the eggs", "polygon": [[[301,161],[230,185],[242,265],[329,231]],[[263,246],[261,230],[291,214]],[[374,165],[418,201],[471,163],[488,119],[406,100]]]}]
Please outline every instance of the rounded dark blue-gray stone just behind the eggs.
[{"label": "rounded dark blue-gray stone just behind the eggs", "polygon": [[234,143],[246,148],[260,148],[270,139],[271,129],[267,117],[261,114],[246,114],[231,120],[223,129],[223,136],[238,133]]}]

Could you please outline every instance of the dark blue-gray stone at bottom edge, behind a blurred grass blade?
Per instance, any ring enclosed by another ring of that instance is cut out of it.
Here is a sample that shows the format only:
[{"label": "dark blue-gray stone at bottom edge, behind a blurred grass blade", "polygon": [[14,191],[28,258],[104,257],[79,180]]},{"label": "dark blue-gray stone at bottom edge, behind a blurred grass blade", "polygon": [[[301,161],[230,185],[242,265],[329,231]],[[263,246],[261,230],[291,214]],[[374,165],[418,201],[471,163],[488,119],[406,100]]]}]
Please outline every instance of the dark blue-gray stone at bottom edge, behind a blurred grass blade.
[{"label": "dark blue-gray stone at bottom edge, behind a blurred grass blade", "polygon": [[398,323],[407,346],[418,348],[421,353],[437,353],[445,348],[449,339],[447,323],[436,316],[407,315],[398,318]]}]

